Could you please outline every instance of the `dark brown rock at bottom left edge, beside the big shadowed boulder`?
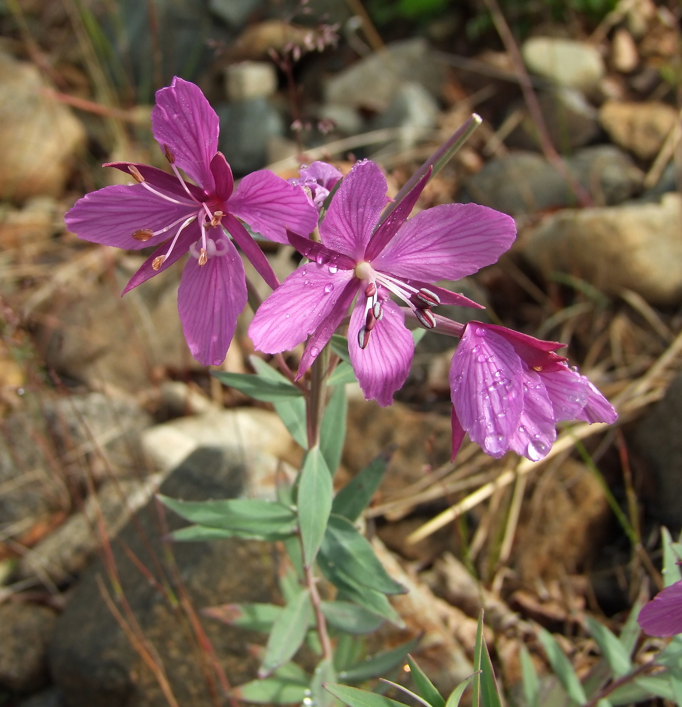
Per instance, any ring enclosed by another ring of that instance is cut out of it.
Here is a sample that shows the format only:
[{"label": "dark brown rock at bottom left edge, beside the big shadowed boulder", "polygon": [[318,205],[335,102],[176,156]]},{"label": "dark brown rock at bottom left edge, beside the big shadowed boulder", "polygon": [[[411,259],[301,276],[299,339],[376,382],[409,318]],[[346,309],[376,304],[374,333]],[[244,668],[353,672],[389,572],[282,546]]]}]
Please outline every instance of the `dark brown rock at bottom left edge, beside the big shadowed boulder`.
[{"label": "dark brown rock at bottom left edge, beside the big shadowed boulder", "polygon": [[47,680],[47,645],[57,614],[38,604],[0,606],[0,685],[15,692],[40,689]]}]

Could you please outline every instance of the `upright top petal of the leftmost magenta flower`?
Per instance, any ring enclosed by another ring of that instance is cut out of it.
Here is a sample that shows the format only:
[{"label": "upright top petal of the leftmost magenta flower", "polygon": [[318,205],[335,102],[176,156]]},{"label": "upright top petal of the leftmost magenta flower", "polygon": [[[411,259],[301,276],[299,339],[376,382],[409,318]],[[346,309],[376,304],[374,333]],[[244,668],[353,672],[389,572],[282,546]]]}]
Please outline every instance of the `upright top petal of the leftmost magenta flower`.
[{"label": "upright top petal of the leftmost magenta flower", "polygon": [[207,192],[214,191],[210,164],[218,151],[219,129],[218,116],[199,86],[175,76],[171,86],[156,91],[151,132],[162,150],[173,153],[175,165]]}]

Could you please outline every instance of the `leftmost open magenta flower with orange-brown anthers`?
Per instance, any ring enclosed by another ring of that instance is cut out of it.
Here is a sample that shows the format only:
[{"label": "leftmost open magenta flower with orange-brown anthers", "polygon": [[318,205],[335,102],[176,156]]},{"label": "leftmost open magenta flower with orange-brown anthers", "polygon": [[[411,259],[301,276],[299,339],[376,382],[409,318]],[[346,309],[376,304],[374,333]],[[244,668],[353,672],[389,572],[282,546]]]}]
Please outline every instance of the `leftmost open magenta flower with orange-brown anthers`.
[{"label": "leftmost open magenta flower with orange-brown anthers", "polygon": [[178,291],[180,320],[192,356],[219,364],[246,303],[241,257],[224,229],[275,288],[270,264],[237,217],[265,238],[287,243],[287,226],[309,233],[317,213],[301,189],[268,170],[247,175],[234,189],[230,166],[218,152],[218,116],[194,83],[175,77],[158,90],[151,124],[173,174],[149,165],[105,165],[131,174],[137,184],[86,194],[65,220],[93,243],[126,250],[158,246],[124,294],[190,252]]}]

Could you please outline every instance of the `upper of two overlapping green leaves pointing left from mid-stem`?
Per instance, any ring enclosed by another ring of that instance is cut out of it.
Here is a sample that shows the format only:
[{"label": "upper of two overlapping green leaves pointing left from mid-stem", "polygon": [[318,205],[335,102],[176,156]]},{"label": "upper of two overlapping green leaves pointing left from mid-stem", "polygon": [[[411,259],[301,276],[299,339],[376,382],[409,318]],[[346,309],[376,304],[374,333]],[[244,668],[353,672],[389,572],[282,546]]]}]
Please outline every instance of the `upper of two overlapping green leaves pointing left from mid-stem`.
[{"label": "upper of two overlapping green leaves pointing left from mid-stem", "polygon": [[177,501],[158,495],[164,506],[185,520],[205,527],[234,530],[247,534],[288,535],[296,529],[296,514],[291,508],[258,498],[229,498],[226,501]]}]

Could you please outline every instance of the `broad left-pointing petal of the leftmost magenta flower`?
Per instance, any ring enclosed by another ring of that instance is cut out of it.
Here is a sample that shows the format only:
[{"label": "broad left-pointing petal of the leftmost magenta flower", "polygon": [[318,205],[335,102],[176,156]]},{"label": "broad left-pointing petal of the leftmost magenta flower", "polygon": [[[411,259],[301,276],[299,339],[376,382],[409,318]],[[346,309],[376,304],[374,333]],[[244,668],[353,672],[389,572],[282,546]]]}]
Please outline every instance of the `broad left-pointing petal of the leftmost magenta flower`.
[{"label": "broad left-pointing petal of the leftmost magenta flower", "polygon": [[[172,204],[141,184],[120,185],[86,194],[67,211],[64,221],[67,228],[83,240],[139,250],[168,240],[177,233],[180,223],[196,211],[191,202]],[[161,230],[178,219],[178,226],[154,235],[144,243],[132,237],[136,230]]]}]

